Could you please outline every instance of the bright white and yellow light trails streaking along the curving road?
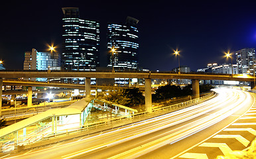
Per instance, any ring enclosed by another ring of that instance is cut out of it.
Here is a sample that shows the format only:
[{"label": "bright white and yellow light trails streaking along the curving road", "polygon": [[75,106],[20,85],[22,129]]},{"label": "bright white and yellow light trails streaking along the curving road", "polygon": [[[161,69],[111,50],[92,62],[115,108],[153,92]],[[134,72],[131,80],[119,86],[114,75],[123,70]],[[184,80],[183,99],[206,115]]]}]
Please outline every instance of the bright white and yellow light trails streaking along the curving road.
[{"label": "bright white and yellow light trails streaking along the curving road", "polygon": [[86,158],[97,157],[101,152],[105,155],[103,158],[136,158],[200,132],[251,104],[251,95],[247,92],[214,90],[218,95],[204,103],[10,158],[38,158],[45,153],[48,158]]}]

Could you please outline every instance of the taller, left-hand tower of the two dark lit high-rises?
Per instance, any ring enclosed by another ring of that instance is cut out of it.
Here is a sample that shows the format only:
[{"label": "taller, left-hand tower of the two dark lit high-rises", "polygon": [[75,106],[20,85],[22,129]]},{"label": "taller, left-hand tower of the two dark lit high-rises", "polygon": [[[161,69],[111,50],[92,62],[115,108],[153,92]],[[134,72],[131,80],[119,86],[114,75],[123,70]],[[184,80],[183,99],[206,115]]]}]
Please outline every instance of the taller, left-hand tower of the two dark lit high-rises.
[{"label": "taller, left-hand tower of the two dark lit high-rises", "polygon": [[65,70],[96,70],[99,66],[99,23],[80,19],[76,7],[62,8],[62,60]]}]

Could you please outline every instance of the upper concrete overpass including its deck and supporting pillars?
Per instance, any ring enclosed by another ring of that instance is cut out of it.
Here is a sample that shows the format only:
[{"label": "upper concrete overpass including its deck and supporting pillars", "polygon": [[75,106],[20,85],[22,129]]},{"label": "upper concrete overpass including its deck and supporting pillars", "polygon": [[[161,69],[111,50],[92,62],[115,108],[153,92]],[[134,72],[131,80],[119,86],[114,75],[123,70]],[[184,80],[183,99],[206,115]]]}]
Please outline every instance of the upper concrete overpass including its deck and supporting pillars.
[{"label": "upper concrete overpass including its deck and supporting pillars", "polygon": [[[186,74],[175,72],[61,72],[61,71],[1,71],[0,87],[3,85],[3,78],[86,78],[85,90],[86,96],[90,95],[91,78],[141,78],[145,79],[145,107],[149,113],[152,109],[151,97],[151,79],[192,79],[192,93],[195,97],[199,97],[199,80],[231,80],[231,81],[255,81],[253,76],[243,74]],[[254,85],[253,85],[254,86]],[[32,88],[29,87],[28,105],[32,104]],[[0,91],[0,98],[2,91]],[[30,100],[31,99],[31,100]],[[1,102],[0,102],[1,104]],[[1,109],[1,106],[0,106]],[[0,113],[1,115],[1,113]]]}]

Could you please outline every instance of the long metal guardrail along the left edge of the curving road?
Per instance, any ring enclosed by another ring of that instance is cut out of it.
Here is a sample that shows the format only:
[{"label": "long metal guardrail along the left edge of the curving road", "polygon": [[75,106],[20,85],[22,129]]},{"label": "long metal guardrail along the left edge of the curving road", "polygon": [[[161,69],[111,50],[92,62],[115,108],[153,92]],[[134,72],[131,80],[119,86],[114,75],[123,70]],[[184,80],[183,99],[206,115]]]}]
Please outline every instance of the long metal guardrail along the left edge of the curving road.
[{"label": "long metal guardrail along the left edge of the curving road", "polygon": [[[24,145],[23,148],[35,148],[38,146],[43,146],[45,144],[50,144],[54,142],[58,142],[60,140],[60,137],[62,137],[62,140],[65,139],[70,139],[76,138],[78,136],[82,136],[85,133],[88,133],[91,131],[97,132],[99,131],[99,128],[104,128],[101,131],[105,129],[113,129],[114,127],[120,127],[121,125],[127,125],[130,123],[135,123],[142,118],[149,118],[149,117],[155,117],[157,115],[164,114],[164,113],[170,113],[171,111],[176,111],[177,109],[184,109],[185,107],[189,107],[191,105],[194,105],[196,103],[200,103],[202,101],[205,101],[207,99],[210,99],[216,95],[215,92],[208,93],[207,95],[204,95],[203,97],[197,98],[197,99],[192,99],[190,101],[185,101],[182,103],[174,104],[174,105],[168,105],[166,107],[160,107],[157,109],[153,109],[153,113],[147,113],[147,112],[142,112],[142,113],[136,113],[133,115],[127,115],[123,117],[118,117],[111,119],[109,121],[101,121],[97,123],[90,123],[87,125],[84,125],[82,128],[80,127],[72,127],[70,129],[64,129],[60,131],[50,131],[50,132],[45,132],[45,133],[40,133],[40,134],[33,134],[33,135],[27,135],[27,136],[21,136],[13,140],[9,140],[8,142],[6,141],[1,141],[0,145],[2,146],[2,150],[5,151],[9,147],[17,148],[18,145]],[[132,120],[131,120],[132,119]],[[114,126],[113,126],[114,125]],[[107,127],[109,126],[109,127]],[[77,132],[82,132],[82,133],[77,133]],[[38,141],[35,143],[32,143],[29,141],[29,138],[33,138],[33,141]],[[52,139],[49,141],[49,139]],[[15,142],[18,141],[18,142]]]}]

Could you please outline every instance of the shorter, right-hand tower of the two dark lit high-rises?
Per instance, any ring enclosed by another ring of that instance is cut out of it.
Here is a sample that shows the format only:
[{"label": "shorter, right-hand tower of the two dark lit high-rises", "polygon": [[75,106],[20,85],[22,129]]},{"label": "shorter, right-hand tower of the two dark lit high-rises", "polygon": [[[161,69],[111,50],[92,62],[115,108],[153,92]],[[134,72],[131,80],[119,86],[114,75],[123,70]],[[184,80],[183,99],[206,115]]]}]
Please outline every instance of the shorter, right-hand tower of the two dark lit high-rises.
[{"label": "shorter, right-hand tower of the two dark lit high-rises", "polygon": [[[139,21],[127,17],[125,25],[109,23],[107,25],[108,67],[115,70],[138,68],[138,29]],[[115,52],[111,52],[115,48]],[[113,59],[112,59],[113,58]]]}]

